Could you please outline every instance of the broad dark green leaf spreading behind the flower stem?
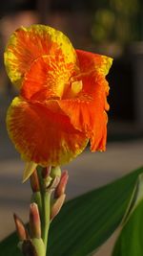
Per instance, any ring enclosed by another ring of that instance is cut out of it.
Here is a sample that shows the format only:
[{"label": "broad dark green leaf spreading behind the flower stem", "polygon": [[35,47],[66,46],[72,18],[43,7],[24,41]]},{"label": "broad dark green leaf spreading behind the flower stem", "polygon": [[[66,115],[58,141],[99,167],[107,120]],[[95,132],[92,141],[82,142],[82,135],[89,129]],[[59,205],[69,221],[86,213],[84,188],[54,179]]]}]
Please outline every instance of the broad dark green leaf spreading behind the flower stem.
[{"label": "broad dark green leaf spreading behind the flower stem", "polygon": [[[103,244],[127,212],[138,175],[142,173],[143,168],[138,169],[67,202],[51,223],[47,255],[87,256]],[[127,217],[132,208],[128,209]],[[20,256],[15,244],[17,239],[12,234],[0,244],[0,255]]]}]

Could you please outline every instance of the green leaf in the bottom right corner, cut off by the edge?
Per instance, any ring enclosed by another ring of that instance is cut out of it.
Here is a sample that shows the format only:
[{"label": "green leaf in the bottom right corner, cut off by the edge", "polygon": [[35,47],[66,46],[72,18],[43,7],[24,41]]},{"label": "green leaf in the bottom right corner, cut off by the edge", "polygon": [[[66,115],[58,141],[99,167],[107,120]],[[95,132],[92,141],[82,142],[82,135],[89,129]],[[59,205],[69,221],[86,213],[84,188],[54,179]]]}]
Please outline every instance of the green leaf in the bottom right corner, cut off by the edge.
[{"label": "green leaf in the bottom right corner, cut off by the edge", "polygon": [[143,175],[136,191],[136,203],[114,245],[112,256],[143,255]]}]

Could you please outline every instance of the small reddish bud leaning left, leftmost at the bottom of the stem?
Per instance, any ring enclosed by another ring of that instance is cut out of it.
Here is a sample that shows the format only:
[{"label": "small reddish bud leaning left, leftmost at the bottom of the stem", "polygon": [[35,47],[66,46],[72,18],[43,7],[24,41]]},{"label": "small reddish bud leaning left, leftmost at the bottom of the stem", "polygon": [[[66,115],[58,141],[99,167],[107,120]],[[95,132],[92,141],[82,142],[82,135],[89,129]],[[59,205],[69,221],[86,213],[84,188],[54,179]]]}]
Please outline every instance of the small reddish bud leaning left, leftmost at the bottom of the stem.
[{"label": "small reddish bud leaning left, leftmost at the bottom of the stem", "polygon": [[25,229],[23,221],[21,221],[20,218],[16,214],[13,214],[13,218],[15,221],[15,226],[16,226],[19,240],[20,241],[26,240],[27,239],[27,231]]}]

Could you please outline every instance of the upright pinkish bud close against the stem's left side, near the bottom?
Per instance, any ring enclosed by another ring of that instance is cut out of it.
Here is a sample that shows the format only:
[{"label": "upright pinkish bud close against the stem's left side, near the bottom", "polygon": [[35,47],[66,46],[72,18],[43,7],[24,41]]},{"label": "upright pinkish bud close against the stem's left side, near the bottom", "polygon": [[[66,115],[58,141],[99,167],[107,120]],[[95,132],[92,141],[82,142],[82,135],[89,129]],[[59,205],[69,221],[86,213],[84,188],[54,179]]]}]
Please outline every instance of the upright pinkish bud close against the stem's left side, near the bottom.
[{"label": "upright pinkish bud close against the stem's left side, near the bottom", "polygon": [[30,233],[31,238],[41,238],[41,221],[38,206],[35,202],[30,206]]}]

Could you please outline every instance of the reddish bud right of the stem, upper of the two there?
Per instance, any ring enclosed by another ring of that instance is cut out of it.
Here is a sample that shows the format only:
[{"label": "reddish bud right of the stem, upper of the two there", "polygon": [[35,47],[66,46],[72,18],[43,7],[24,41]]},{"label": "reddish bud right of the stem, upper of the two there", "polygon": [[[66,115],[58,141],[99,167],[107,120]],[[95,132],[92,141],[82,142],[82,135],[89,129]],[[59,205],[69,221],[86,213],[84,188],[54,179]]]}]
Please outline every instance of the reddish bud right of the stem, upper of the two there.
[{"label": "reddish bud right of the stem, upper of the two there", "polygon": [[69,178],[68,172],[64,171],[61,175],[60,182],[55,190],[55,193],[54,193],[55,198],[59,198],[61,195],[65,193],[68,178]]}]

